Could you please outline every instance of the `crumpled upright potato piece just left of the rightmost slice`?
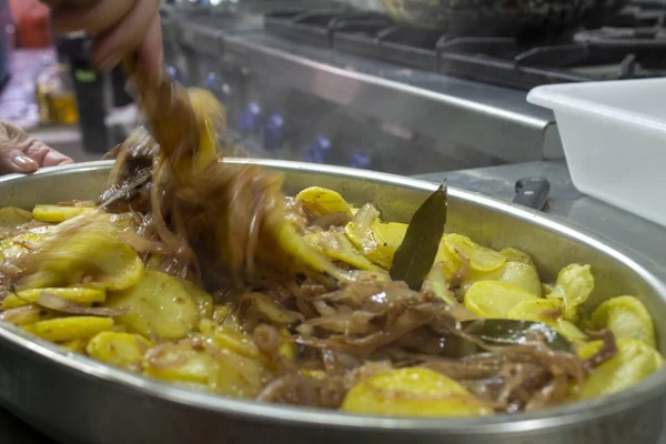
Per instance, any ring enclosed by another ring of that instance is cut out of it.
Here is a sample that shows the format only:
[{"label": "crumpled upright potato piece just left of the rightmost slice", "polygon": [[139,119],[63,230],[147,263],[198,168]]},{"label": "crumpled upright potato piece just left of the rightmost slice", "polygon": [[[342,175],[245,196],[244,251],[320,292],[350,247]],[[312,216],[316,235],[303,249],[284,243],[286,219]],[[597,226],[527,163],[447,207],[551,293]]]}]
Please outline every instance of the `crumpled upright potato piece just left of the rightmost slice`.
[{"label": "crumpled upright potato piece just left of the rightmost slice", "polygon": [[589,265],[571,264],[562,269],[548,297],[564,301],[565,317],[576,321],[578,306],[587,301],[594,290],[594,276]]}]

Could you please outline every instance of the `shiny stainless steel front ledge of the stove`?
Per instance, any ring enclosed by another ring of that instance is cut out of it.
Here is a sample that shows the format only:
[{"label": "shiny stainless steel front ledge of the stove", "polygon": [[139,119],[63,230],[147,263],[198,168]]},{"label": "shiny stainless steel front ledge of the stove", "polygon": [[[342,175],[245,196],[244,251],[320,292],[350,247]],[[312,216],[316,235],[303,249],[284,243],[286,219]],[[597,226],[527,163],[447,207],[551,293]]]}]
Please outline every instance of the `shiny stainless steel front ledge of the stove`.
[{"label": "shiny stainless steel front ledge of the stove", "polygon": [[[507,162],[557,157],[553,113],[526,93],[406,69],[263,32],[225,38],[251,72],[282,84]],[[396,105],[400,104],[400,105]],[[483,128],[483,131],[478,131]]]}]

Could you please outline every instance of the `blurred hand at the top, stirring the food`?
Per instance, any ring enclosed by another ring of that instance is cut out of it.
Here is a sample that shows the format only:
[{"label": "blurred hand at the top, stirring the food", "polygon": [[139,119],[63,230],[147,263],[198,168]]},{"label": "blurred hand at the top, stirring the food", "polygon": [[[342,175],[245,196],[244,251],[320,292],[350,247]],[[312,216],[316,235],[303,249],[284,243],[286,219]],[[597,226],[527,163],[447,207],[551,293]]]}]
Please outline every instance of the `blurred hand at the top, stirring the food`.
[{"label": "blurred hand at the top, stirring the food", "polygon": [[93,36],[92,61],[102,71],[137,52],[137,69],[147,79],[162,72],[161,0],[42,0],[51,7],[59,33]]}]

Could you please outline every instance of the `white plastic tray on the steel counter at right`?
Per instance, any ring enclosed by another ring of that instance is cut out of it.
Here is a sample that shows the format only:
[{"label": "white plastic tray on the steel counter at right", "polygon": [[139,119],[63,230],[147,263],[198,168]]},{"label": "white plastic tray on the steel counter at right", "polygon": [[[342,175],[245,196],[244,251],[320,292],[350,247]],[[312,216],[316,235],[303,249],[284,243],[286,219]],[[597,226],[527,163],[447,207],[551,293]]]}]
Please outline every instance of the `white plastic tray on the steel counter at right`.
[{"label": "white plastic tray on the steel counter at right", "polygon": [[666,226],[666,79],[544,85],[527,101],[555,112],[581,192]]}]

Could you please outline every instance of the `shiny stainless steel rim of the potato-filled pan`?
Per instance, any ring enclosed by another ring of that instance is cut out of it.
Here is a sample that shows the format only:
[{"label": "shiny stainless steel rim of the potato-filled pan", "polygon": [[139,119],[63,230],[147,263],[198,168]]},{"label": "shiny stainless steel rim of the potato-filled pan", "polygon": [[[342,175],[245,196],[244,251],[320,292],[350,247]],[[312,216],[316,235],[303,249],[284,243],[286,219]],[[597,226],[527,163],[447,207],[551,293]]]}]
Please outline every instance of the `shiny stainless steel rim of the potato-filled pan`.
[{"label": "shiny stainless steel rim of the potato-filled pan", "polygon": [[[347,168],[254,159],[228,159],[226,161],[231,163],[262,164],[286,172],[302,171],[335,174],[337,176],[346,176],[350,179],[362,178],[370,182],[383,182],[423,191],[434,191],[436,189],[436,184],[425,181]],[[112,163],[112,161],[81,163],[68,167],[43,169],[36,174],[61,175],[68,174],[72,171],[103,171],[109,170]],[[29,180],[29,178],[20,174],[12,174],[0,178],[0,183],[22,180]],[[620,261],[625,266],[632,269],[638,275],[640,275],[640,278],[643,278],[659,294],[666,295],[666,285],[655,275],[647,272],[620,246],[610,246],[609,242],[601,241],[594,234],[586,233],[581,229],[574,229],[566,223],[555,221],[543,213],[538,213],[529,209],[521,208],[493,198],[478,195],[476,193],[455,188],[451,188],[448,192],[451,196],[456,200],[474,202],[477,205],[493,209],[500,213],[516,215],[531,220],[535,224],[538,223],[561,236],[588,244],[599,252]],[[485,435],[488,433],[542,431],[575,425],[586,421],[615,414],[654,400],[666,392],[666,369],[662,369],[660,371],[645,379],[639,384],[636,384],[635,386],[632,386],[620,393],[592,401],[577,402],[556,408],[544,410],[536,413],[498,415],[490,418],[433,420],[362,416],[332,412],[327,410],[290,407],[255,401],[243,401],[179,387],[173,384],[162,383],[112,367],[83,355],[68,352],[56,344],[36,340],[32,335],[23,332],[22,330],[3,322],[0,322],[0,341],[6,341],[13,346],[27,350],[38,355],[41,360],[53,362],[71,372],[82,373],[88,377],[98,377],[107,383],[119,385],[127,390],[135,390],[143,394],[168,402],[180,403],[198,410],[215,412],[232,417],[254,418],[263,422],[279,422],[282,425],[289,424],[294,426],[326,425],[335,428],[357,428],[365,431],[381,428],[396,428],[414,432],[435,431],[442,436],[461,433],[468,435]]]}]

